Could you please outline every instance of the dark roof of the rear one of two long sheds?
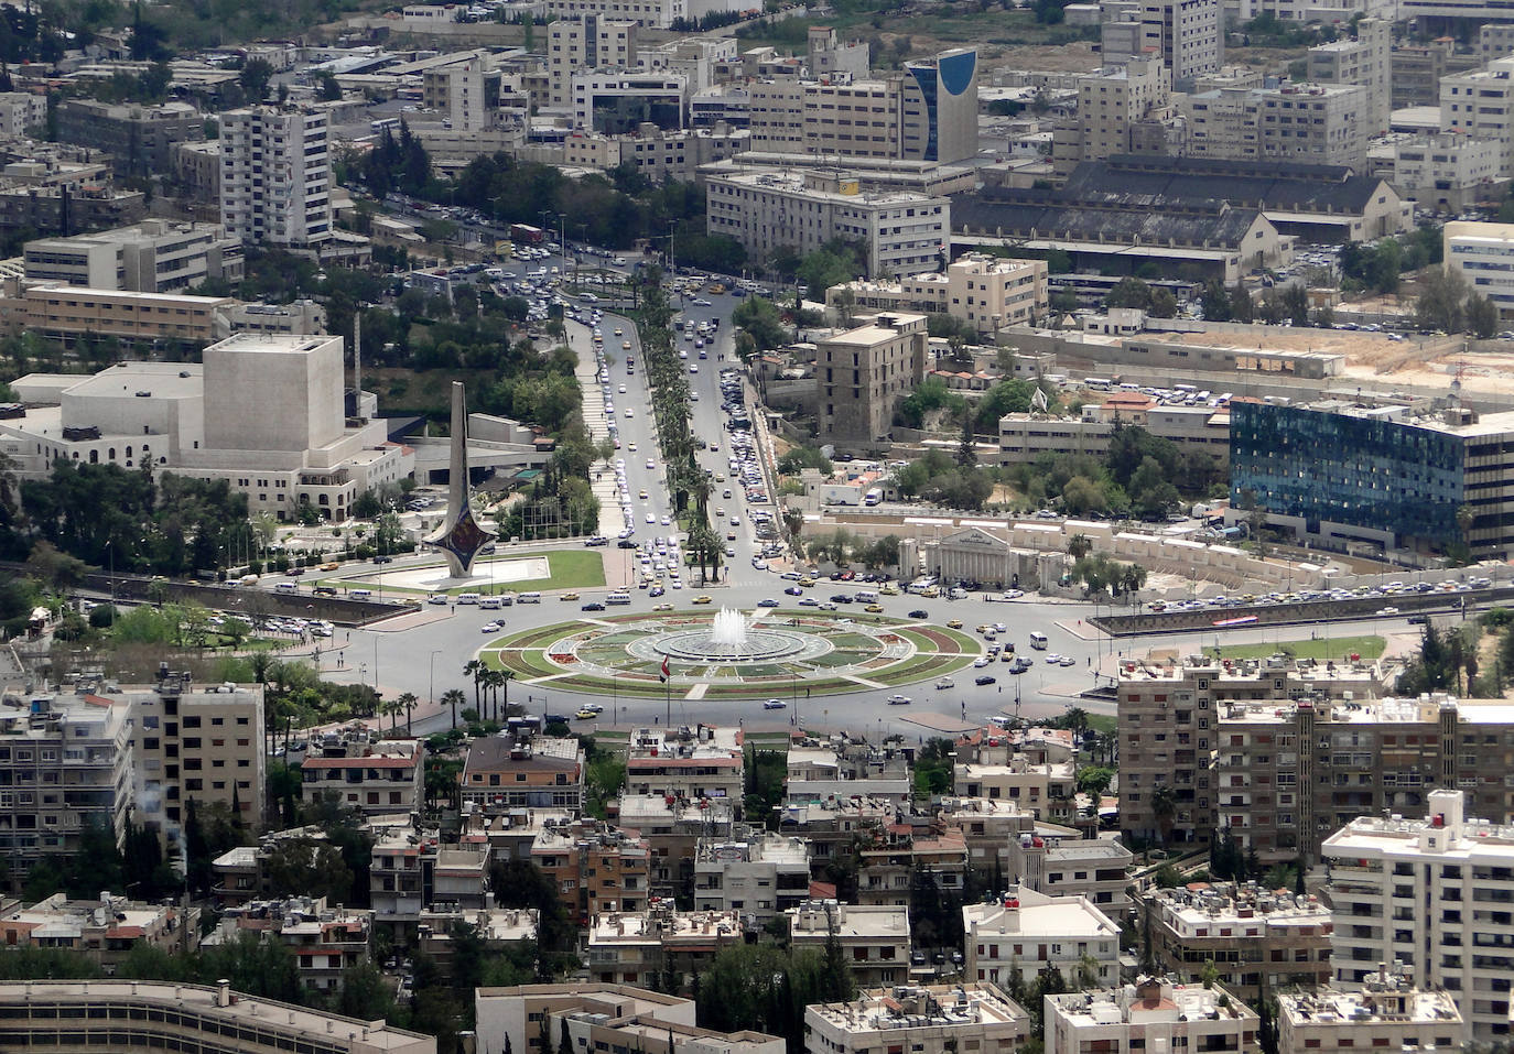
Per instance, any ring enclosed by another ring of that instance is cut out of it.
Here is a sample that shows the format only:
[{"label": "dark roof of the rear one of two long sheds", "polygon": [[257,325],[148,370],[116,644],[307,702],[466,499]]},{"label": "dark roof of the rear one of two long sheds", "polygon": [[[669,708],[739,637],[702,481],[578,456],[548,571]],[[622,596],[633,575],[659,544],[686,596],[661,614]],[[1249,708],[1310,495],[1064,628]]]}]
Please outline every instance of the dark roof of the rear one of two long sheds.
[{"label": "dark roof of the rear one of two long sheds", "polygon": [[1122,154],[1081,162],[1061,195],[1078,201],[1193,207],[1228,201],[1248,209],[1361,215],[1381,194],[1382,180],[1341,165],[1255,165],[1207,157]]}]

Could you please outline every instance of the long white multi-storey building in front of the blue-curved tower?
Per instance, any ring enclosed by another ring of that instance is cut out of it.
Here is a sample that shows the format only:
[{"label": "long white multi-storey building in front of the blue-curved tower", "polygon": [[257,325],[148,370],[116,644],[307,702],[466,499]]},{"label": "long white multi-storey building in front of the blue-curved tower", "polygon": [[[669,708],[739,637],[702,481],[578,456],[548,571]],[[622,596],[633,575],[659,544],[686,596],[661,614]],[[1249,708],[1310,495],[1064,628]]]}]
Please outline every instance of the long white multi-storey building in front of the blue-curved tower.
[{"label": "long white multi-storey building in front of the blue-curved tower", "polygon": [[734,237],[757,257],[780,245],[812,253],[840,237],[868,246],[869,275],[934,271],[951,231],[946,198],[908,191],[863,194],[855,177],[834,169],[712,174],[706,204],[709,233]]}]

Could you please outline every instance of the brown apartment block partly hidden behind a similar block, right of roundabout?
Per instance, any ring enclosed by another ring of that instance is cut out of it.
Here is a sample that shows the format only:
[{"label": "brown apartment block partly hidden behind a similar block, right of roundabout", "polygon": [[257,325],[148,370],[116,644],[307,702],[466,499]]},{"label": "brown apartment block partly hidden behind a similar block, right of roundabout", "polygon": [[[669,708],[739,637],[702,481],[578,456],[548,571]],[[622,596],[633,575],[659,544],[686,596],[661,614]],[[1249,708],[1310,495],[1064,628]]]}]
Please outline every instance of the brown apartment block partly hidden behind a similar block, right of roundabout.
[{"label": "brown apartment block partly hidden behind a similar block, right of roundabout", "polygon": [[[1384,693],[1373,665],[1294,664],[1291,659],[1125,662],[1119,674],[1120,826],[1126,838],[1207,844],[1219,795],[1211,753],[1219,747],[1220,708],[1293,697],[1354,700]],[[1172,809],[1155,806],[1163,797]]]}]

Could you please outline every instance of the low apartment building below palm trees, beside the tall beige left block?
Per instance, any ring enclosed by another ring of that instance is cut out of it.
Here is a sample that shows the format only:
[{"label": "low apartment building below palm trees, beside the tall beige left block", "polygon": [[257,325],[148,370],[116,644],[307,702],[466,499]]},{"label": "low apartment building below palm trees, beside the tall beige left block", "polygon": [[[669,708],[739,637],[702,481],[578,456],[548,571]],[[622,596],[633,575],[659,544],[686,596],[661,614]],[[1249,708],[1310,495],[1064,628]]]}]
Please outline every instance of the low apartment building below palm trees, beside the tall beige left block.
[{"label": "low apartment building below palm trees, beside the tall beige left block", "polygon": [[410,814],[425,797],[425,746],[419,739],[333,746],[306,755],[300,776],[307,806],[335,795],[365,817]]}]

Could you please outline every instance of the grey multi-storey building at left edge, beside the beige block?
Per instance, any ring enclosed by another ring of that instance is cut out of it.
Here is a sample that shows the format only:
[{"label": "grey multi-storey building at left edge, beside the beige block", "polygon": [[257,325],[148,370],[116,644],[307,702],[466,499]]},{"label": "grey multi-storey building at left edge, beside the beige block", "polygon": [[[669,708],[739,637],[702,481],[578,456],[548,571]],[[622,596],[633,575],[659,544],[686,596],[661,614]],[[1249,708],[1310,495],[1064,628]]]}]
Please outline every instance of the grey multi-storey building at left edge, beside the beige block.
[{"label": "grey multi-storey building at left edge, beside the beige block", "polygon": [[12,870],[77,853],[91,826],[120,842],[133,777],[127,700],[45,693],[0,700],[0,847]]}]

